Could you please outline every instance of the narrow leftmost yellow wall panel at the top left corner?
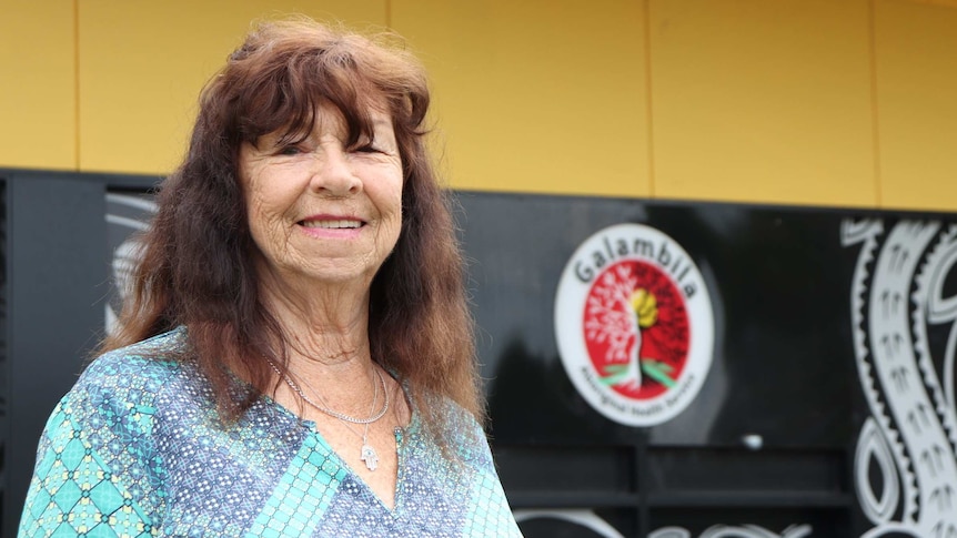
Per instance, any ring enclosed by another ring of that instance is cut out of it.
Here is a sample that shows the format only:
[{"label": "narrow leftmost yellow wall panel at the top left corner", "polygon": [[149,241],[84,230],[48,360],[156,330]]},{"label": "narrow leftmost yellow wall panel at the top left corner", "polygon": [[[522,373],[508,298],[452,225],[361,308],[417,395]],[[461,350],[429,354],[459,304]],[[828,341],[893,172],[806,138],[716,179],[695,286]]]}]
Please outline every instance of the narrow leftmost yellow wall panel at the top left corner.
[{"label": "narrow leftmost yellow wall panel at the top left corner", "polygon": [[0,0],[0,166],[77,164],[73,2]]}]

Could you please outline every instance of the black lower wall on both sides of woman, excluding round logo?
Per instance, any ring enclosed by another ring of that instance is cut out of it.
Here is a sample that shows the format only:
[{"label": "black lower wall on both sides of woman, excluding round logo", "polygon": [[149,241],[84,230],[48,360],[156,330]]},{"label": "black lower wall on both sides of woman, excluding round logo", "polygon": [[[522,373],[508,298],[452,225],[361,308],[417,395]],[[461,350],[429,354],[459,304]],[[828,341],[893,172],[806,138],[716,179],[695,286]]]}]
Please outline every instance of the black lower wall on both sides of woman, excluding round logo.
[{"label": "black lower wall on both sides of woman, excluding round logo", "polygon": [[[22,171],[0,179],[0,525],[12,536],[40,429],[97,345],[108,308],[118,307],[111,282],[128,268],[127,240],[149,219],[143,193],[154,179]],[[954,386],[946,357],[957,345],[947,302],[957,296],[948,257],[953,251],[957,260],[955,215],[457,199],[493,449],[526,536],[847,537],[890,532],[897,522],[900,536],[934,528],[947,536],[945,486],[957,491],[946,483],[957,461],[946,396]],[[588,404],[556,342],[565,265],[590,236],[623,223],[684,248],[714,317],[701,390],[678,415],[647,427]],[[891,274],[905,265],[910,273]],[[931,278],[933,271],[946,274]],[[904,287],[894,288],[895,278]],[[882,316],[895,307],[911,327],[906,334],[886,333]],[[923,373],[878,377],[882,349],[895,346],[913,348]],[[924,383],[905,387],[906,375]],[[905,388],[939,396],[936,419],[949,445],[920,440],[915,428],[929,428],[934,416],[891,413],[905,396],[895,390]],[[921,459],[931,450],[925,445],[937,453]],[[940,510],[930,514],[931,503]]]}]

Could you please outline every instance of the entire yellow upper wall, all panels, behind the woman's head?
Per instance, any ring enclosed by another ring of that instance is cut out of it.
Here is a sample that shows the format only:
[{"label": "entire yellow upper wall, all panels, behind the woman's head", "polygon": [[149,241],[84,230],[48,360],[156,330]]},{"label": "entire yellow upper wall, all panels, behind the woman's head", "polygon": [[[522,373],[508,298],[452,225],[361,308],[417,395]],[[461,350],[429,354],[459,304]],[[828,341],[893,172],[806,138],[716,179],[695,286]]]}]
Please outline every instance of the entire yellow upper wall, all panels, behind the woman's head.
[{"label": "entire yellow upper wall, all panels, behind the woman's head", "polygon": [[409,39],[460,189],[957,209],[955,0],[0,0],[0,166],[168,173],[291,12]]}]

